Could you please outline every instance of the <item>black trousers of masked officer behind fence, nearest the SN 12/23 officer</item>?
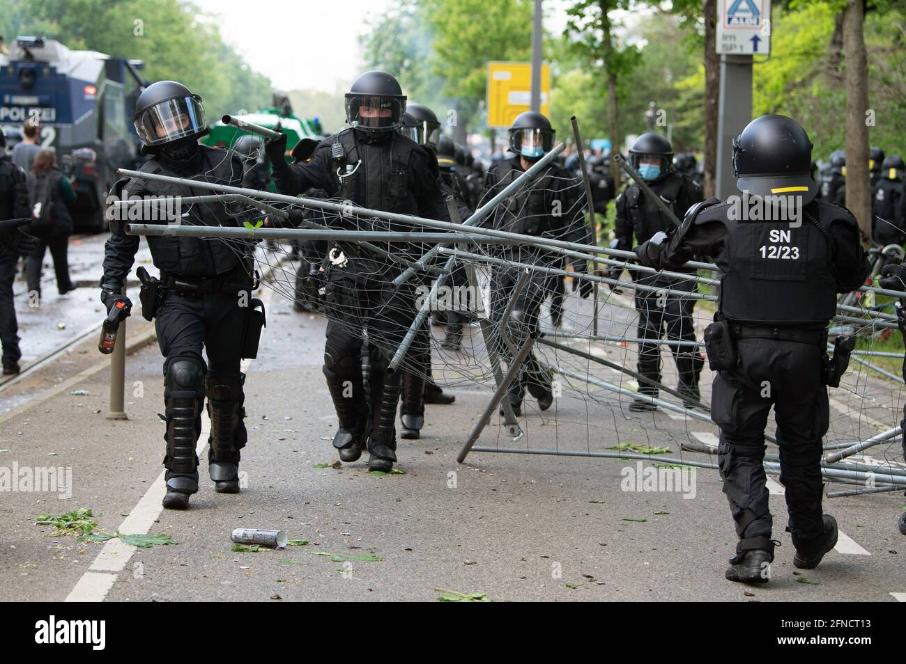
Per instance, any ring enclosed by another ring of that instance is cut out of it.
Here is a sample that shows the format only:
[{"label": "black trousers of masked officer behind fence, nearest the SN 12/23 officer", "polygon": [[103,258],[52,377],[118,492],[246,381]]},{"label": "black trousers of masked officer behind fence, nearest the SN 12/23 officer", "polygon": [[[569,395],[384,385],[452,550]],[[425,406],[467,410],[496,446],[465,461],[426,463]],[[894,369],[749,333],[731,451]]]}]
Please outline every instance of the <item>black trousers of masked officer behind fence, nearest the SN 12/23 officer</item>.
[{"label": "black trousers of masked officer behind fence, nearest the SN 12/23 officer", "polygon": [[[660,338],[692,341],[695,338],[695,321],[692,310],[695,299],[677,297],[661,292],[660,289],[694,292],[694,280],[676,280],[658,275],[635,275],[635,282],[651,286],[655,290],[635,291],[635,308],[639,312],[639,338],[651,339],[650,343],[639,345],[638,371],[646,378],[660,383]],[[705,364],[695,346],[672,346],[670,351],[677,365],[680,386],[693,387],[699,384],[701,367]],[[640,385],[642,394],[657,394],[657,389]]]}]

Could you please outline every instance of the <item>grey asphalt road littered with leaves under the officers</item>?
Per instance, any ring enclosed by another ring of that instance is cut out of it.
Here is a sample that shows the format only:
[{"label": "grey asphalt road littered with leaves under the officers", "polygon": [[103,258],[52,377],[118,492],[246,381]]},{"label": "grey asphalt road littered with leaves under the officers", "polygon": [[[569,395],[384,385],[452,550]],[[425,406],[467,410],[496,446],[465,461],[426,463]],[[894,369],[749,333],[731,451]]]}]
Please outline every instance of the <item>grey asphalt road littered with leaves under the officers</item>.
[{"label": "grey asphalt road littered with leaves under the officers", "polygon": [[[581,327],[574,299],[569,306],[567,318]],[[607,318],[630,329],[627,308]],[[458,365],[444,367],[436,358],[436,375],[454,385],[457,402],[429,406],[423,438],[400,441],[404,474],[374,476],[364,459],[323,467],[336,460],[330,444],[336,419],[321,374],[323,329],[322,318],[270,298],[263,346],[247,368],[247,486],[236,496],[215,493],[203,460],[201,489],[188,512],[159,505],[164,443],[156,414],[163,410],[157,346],[129,357],[128,422],[104,418],[106,367],[56,394],[51,385],[18,399],[0,415],[0,467],[59,467],[63,476],[71,469],[72,495],[58,498],[67,493],[58,487],[0,498],[0,600],[431,601],[437,588],[486,593],[493,601],[906,600],[897,494],[825,499],[845,537],[818,569],[798,574],[783,531],[782,487],[774,482],[775,537],[782,546],[771,583],[749,588],[723,578],[736,537],[716,470],[693,476],[688,469],[657,469],[685,473],[674,475],[680,490],[644,490],[652,488],[644,482],[634,487],[641,490],[626,490],[633,489],[628,478],[651,462],[639,470],[635,460],[474,451],[458,464],[458,450],[491,392],[463,378],[480,371],[480,345],[478,359],[462,357]],[[83,365],[94,365],[95,343],[73,351]],[[630,349],[606,352],[631,361]],[[587,366],[561,354],[549,359]],[[593,372],[631,387],[611,370]],[[66,383],[61,377],[56,384]],[[871,409],[854,409],[852,394],[873,400]],[[864,420],[872,416],[879,426],[888,422],[886,401],[895,394],[863,384],[838,395],[834,433],[842,440],[867,432],[871,424]],[[0,394],[0,400],[14,398]],[[510,441],[495,417],[478,444],[608,451],[633,442],[670,448],[668,456],[683,460],[715,461],[679,448],[690,439],[713,441],[713,424],[662,412],[639,417],[626,410],[628,401],[564,385],[551,410],[526,409],[522,441]],[[895,452],[892,445],[874,451],[891,459]],[[167,534],[178,545],[78,543],[34,525],[42,512],[79,507],[92,508],[104,531]],[[235,527],[283,529],[308,544],[236,553],[229,539]]]}]

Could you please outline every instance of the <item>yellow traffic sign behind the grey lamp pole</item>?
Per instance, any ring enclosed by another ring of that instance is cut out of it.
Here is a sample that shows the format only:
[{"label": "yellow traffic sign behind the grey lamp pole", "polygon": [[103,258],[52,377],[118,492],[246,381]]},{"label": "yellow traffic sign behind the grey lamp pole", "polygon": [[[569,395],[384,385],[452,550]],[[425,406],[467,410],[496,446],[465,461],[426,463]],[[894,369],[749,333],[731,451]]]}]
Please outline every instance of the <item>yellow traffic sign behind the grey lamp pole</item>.
[{"label": "yellow traffic sign behind the grey lamp pole", "polygon": [[[541,112],[548,115],[551,68],[541,66]],[[520,113],[530,110],[531,62],[487,63],[487,126],[509,127]]]}]

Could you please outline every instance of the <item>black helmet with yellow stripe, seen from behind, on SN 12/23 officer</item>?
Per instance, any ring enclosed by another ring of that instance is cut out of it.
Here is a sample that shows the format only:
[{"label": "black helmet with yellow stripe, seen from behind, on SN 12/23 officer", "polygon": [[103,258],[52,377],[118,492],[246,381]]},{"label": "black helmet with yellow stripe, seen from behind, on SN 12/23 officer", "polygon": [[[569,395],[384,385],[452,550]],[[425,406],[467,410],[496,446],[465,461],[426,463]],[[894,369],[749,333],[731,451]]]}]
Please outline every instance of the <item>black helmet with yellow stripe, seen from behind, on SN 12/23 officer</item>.
[{"label": "black helmet with yellow stripe, seen from behind, on SN 12/23 officer", "polygon": [[763,115],[733,139],[737,189],[759,196],[800,195],[809,203],[818,192],[812,179],[812,141],[783,115]]}]

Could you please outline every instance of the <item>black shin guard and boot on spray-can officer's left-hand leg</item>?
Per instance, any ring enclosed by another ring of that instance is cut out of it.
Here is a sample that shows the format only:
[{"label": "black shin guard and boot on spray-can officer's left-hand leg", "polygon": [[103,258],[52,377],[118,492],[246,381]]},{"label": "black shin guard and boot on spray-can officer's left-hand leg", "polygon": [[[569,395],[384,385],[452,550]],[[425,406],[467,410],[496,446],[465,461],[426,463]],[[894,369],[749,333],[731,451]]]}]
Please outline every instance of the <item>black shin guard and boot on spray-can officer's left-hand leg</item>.
[{"label": "black shin guard and boot on spray-can officer's left-hand leg", "polygon": [[205,367],[194,357],[176,357],[169,362],[164,383],[167,422],[167,455],[164,479],[167,492],[163,506],[188,509],[188,497],[198,491],[198,455],[195,447],[201,433],[201,409],[205,403]]}]

